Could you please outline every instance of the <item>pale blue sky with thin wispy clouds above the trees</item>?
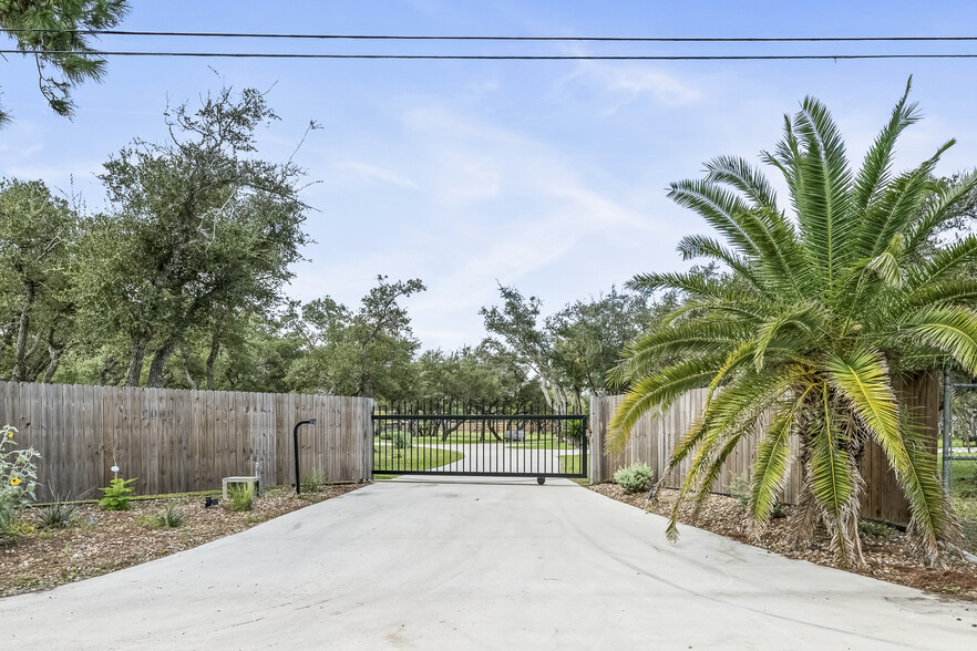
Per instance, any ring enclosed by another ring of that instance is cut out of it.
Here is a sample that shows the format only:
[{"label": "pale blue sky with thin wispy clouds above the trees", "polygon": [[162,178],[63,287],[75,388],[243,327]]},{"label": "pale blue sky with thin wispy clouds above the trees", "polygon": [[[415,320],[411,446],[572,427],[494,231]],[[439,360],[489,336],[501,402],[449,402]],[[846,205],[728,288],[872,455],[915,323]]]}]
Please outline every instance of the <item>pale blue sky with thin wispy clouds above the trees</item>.
[{"label": "pale blue sky with thin wispy clouds above the trees", "polygon": [[[360,34],[809,37],[971,35],[970,2],[583,2],[446,0],[136,1],[132,30]],[[390,53],[977,52],[973,44],[534,44],[176,42],[111,38],[105,49]],[[208,68],[214,66],[219,78]],[[162,140],[167,101],[217,87],[274,89],[281,122],[260,153],[286,158],[309,120],[322,125],[297,159],[317,208],[317,244],[289,293],[349,306],[378,273],[422,278],[412,298],[425,348],[477,343],[479,308],[496,280],[547,311],[639,271],[682,268],[675,246],[706,231],[670,204],[671,180],[719,154],[755,159],[805,94],[831,107],[861,158],[914,75],[926,120],[905,136],[903,166],[959,142],[942,174],[977,161],[977,60],[817,62],[521,62],[112,59],[103,84],[74,93],[73,121],[54,116],[27,60],[0,61],[0,176],[41,178],[102,207],[95,179],[135,136]]]}]

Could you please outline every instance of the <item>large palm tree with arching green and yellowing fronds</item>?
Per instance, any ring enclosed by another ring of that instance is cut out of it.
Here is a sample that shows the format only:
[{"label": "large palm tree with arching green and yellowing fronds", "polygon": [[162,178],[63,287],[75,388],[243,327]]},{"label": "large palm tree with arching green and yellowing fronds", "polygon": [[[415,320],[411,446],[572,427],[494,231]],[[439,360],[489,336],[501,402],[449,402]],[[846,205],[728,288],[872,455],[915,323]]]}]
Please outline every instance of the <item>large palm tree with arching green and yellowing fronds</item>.
[{"label": "large palm tree with arching green and yellowing fronds", "polygon": [[749,505],[754,533],[769,519],[791,464],[801,463],[799,541],[810,540],[821,520],[839,561],[864,565],[857,461],[874,440],[908,498],[909,531],[927,561],[939,559],[939,540],[959,535],[935,454],[896,400],[891,374],[932,369],[947,355],[977,373],[977,280],[961,272],[977,258],[977,237],[933,252],[934,234],[977,175],[950,185],[934,179],[954,141],[916,168],[892,173],[896,140],[919,120],[917,105],[907,103],[911,83],[857,174],[821,102],[806,97],[793,118],[784,116],[783,141],[761,159],[783,175],[789,211],[778,207],[767,178],[737,157],[710,161],[701,180],[671,184],[669,196],[724,240],[690,236],[679,251],[719,261],[729,273],[645,273],[631,281],[646,291],[679,290],[687,300],[630,345],[614,371],[630,389],[608,440],[609,451],[619,451],[642,414],[709,389],[670,457],[669,469],[690,458],[670,539],[679,505],[702,504],[723,461],[764,414],[770,425]]}]

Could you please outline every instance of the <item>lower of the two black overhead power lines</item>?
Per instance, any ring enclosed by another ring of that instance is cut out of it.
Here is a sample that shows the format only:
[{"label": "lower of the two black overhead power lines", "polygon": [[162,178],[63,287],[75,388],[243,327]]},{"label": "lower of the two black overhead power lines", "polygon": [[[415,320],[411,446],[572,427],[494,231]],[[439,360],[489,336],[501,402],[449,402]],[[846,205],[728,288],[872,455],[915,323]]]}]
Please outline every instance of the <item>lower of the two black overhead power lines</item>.
[{"label": "lower of the two black overhead power lines", "polygon": [[304,54],[299,52],[150,52],[107,50],[0,50],[0,54],[64,54],[79,56],[187,56],[216,59],[399,59],[420,61],[842,61],[854,59],[977,59],[961,54]]}]

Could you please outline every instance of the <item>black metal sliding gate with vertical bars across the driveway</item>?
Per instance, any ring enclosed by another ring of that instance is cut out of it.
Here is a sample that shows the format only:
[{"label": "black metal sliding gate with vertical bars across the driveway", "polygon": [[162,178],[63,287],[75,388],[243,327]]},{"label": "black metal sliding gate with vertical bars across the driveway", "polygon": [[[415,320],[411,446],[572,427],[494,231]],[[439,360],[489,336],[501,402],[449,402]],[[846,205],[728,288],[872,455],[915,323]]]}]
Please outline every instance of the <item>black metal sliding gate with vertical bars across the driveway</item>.
[{"label": "black metal sliding gate with vertical bars across the driveway", "polygon": [[586,477],[587,421],[543,409],[378,405],[373,475]]}]

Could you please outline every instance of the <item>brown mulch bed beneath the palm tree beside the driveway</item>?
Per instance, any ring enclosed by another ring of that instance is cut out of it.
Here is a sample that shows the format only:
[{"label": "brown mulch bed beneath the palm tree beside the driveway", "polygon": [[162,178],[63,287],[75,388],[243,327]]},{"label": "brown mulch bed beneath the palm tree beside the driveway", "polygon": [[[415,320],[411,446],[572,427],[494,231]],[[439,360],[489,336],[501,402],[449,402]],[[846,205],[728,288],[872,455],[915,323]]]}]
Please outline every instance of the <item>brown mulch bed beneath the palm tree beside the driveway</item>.
[{"label": "brown mulch bed beneath the palm tree beside the driveway", "polygon": [[[606,497],[665,517],[670,516],[671,508],[678,497],[678,490],[664,489],[656,503],[648,503],[645,494],[625,495],[620,486],[616,484],[596,484],[589,488]],[[679,523],[696,526],[740,542],[753,544],[788,558],[800,558],[837,568],[825,533],[819,530],[810,547],[799,549],[791,540],[788,527],[789,517],[786,516],[790,516],[790,507],[784,507],[783,513],[785,517],[771,519],[759,544],[750,542],[748,538],[749,523],[743,506],[737,499],[724,495],[710,495],[695,524],[691,520],[691,508],[682,507]],[[681,528],[679,529],[681,530]],[[875,523],[863,524],[862,544],[868,567],[865,570],[855,570],[857,574],[891,583],[919,588],[927,592],[977,601],[977,565],[957,558],[947,558],[945,569],[926,567],[913,556],[908,537],[904,531]]]}]

